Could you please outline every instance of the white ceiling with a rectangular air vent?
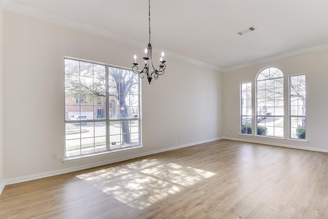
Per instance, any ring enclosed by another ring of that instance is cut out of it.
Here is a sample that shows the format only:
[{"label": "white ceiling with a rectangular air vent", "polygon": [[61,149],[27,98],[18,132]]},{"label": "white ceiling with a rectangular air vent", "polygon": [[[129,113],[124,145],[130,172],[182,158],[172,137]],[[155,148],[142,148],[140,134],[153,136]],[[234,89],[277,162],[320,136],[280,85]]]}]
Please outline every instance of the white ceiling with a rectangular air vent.
[{"label": "white ceiling with a rectangular air vent", "polygon": [[[7,10],[145,48],[148,1],[2,0]],[[328,48],[328,1],[151,0],[155,51],[228,71]],[[237,32],[254,26],[244,35]],[[132,55],[131,55],[132,57]]]}]

